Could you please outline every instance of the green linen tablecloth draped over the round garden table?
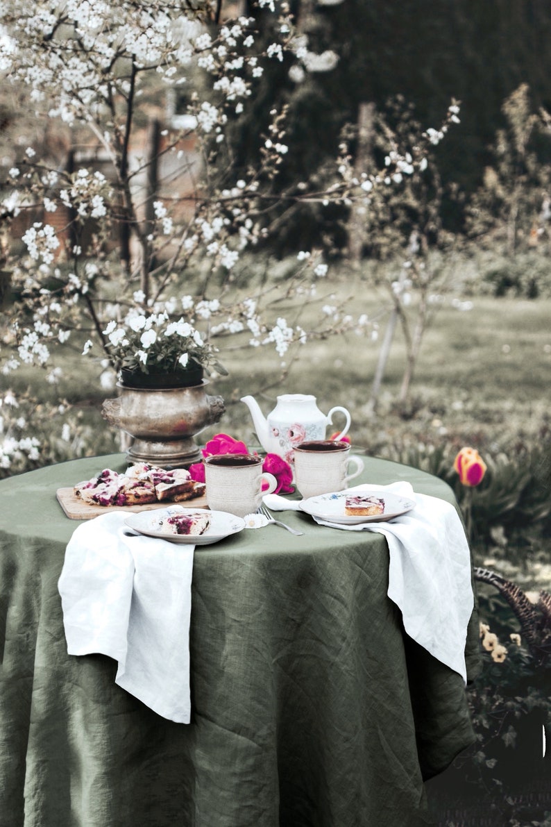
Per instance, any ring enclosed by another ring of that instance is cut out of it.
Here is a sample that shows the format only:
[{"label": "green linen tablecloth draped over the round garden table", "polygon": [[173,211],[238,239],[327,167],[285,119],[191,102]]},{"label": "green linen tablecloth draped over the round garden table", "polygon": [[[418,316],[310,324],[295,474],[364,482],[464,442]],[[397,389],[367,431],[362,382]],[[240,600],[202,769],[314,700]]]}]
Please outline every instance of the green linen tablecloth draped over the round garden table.
[{"label": "green linen tablecloth draped over the round garden table", "polygon": [[[461,677],[406,636],[381,534],[285,514],[197,547],[192,721],[155,715],[116,662],[67,654],[57,582],[79,524],[60,487],[123,455],[0,482],[1,827],[407,827],[423,778],[473,741]],[[359,481],[447,485],[366,459]],[[441,629],[445,636],[446,629]],[[476,614],[466,649],[477,668]]]}]

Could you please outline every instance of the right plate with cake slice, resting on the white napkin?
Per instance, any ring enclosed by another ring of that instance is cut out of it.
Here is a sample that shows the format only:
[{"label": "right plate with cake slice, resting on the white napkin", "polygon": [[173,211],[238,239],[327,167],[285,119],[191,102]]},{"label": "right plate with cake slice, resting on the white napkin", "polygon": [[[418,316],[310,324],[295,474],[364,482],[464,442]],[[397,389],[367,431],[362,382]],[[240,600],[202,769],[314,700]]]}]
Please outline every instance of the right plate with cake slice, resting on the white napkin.
[{"label": "right plate with cake slice, resting on the white napkin", "polygon": [[387,523],[415,508],[415,500],[401,497],[387,490],[335,491],[302,500],[300,507],[306,514],[325,523],[358,525],[359,523]]}]

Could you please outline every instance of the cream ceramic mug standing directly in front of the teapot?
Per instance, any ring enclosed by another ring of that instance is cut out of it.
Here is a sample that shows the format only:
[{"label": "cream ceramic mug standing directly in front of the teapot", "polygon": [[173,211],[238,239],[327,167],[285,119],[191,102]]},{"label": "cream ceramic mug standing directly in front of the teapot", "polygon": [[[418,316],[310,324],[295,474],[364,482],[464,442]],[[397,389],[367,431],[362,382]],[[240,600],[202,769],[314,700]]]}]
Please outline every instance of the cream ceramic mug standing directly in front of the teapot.
[{"label": "cream ceramic mug standing directly in front of the teapot", "polygon": [[[356,466],[348,474],[349,464]],[[295,448],[295,483],[304,500],[342,491],[363,471],[363,459],[350,455],[348,442],[312,439]]]}]

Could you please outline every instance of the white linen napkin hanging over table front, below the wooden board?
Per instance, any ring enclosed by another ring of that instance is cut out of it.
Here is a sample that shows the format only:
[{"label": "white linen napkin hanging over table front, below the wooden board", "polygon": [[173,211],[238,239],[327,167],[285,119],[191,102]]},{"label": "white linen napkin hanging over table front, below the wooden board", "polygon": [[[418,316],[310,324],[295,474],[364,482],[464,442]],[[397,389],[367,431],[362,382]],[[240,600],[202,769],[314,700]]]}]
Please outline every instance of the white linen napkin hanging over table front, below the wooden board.
[{"label": "white linen napkin hanging over table front, below the wooden board", "polygon": [[128,536],[126,516],[102,514],[69,540],[58,583],[67,651],[114,658],[118,686],[188,724],[195,546]]}]

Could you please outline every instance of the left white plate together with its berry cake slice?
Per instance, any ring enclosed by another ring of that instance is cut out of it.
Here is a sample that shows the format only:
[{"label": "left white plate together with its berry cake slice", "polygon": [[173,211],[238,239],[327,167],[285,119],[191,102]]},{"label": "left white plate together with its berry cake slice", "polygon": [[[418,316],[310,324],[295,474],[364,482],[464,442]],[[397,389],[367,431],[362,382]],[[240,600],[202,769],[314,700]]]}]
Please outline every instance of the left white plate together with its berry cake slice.
[{"label": "left white plate together with its berry cake slice", "polygon": [[186,509],[182,505],[129,514],[125,523],[132,531],[146,537],[195,546],[219,543],[245,528],[244,519],[226,511]]}]

